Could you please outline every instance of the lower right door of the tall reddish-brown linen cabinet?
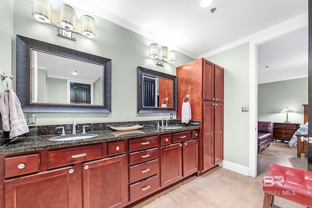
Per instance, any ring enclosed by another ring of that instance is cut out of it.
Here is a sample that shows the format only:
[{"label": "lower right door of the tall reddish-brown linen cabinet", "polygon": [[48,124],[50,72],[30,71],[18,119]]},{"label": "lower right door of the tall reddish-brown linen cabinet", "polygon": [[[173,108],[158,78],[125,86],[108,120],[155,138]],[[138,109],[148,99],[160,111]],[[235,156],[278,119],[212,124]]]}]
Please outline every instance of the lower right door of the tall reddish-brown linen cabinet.
[{"label": "lower right door of the tall reddish-brown linen cabinet", "polygon": [[215,103],[215,165],[223,161],[223,104]]}]

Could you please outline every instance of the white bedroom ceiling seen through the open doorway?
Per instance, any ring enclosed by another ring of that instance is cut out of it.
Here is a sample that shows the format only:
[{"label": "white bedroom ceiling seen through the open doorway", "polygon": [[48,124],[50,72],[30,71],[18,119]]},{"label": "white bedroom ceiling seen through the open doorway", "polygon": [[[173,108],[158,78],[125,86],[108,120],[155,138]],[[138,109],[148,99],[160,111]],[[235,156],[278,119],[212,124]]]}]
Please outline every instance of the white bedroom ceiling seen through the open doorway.
[{"label": "white bedroom ceiling seen through the open doorway", "polygon": [[257,68],[259,84],[308,77],[308,28],[258,45]]}]

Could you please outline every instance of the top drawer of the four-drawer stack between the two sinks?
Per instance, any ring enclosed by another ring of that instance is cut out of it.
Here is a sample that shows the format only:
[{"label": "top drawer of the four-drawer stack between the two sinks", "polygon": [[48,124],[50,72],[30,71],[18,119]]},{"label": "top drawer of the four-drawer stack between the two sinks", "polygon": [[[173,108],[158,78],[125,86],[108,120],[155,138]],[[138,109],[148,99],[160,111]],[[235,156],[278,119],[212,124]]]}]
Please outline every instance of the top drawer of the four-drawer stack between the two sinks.
[{"label": "top drawer of the four-drawer stack between the two sinks", "polygon": [[129,151],[158,146],[158,136],[143,137],[129,140]]}]

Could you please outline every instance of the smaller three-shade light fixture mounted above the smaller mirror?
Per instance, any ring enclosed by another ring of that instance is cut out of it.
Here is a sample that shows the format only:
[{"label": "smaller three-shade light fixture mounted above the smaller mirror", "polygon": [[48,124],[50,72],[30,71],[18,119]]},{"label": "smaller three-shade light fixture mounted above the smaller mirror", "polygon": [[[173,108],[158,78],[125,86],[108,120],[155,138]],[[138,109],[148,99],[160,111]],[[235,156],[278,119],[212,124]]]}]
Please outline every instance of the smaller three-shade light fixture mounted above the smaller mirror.
[{"label": "smaller three-shade light fixture mounted above the smaller mirror", "polygon": [[155,43],[150,44],[150,58],[156,60],[156,64],[159,66],[164,66],[164,63],[173,64],[176,62],[176,52],[168,51],[168,47],[161,46],[159,48],[158,56],[158,46]]}]

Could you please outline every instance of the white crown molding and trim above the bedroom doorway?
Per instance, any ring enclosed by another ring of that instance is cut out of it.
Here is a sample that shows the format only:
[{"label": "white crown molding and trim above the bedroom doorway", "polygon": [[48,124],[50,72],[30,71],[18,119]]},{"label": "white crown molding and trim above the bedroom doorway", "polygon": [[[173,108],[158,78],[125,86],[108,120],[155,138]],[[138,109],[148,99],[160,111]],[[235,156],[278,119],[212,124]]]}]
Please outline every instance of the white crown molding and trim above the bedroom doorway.
[{"label": "white crown molding and trim above the bedroom doorway", "polygon": [[283,36],[283,35],[286,35],[294,31],[301,30],[301,29],[305,29],[307,27],[308,27],[308,13],[304,13],[288,21],[283,21],[279,24],[276,24],[272,27],[261,30],[260,32],[254,33],[238,41],[232,42],[230,44],[224,45],[220,48],[207,52],[203,55],[200,55],[199,58],[207,58],[207,57],[213,56],[215,54],[229,50],[231,48],[234,48],[246,42],[256,42],[256,43],[267,42],[274,38],[278,38],[280,36]]}]

